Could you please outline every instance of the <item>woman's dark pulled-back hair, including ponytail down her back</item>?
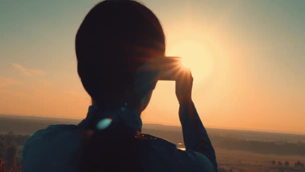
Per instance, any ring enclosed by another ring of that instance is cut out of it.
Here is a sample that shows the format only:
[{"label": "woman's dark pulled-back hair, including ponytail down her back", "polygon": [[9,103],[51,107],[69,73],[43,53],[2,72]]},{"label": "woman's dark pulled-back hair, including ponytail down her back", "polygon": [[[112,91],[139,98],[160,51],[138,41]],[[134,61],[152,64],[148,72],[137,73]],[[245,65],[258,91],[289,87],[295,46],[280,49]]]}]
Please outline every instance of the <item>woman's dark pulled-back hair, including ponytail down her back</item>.
[{"label": "woman's dark pulled-back hair, including ponytail down her back", "polygon": [[97,130],[96,124],[98,113],[119,108],[127,101],[125,92],[134,92],[137,68],[164,55],[158,18],[135,1],[100,2],[80,25],[75,47],[82,84],[102,109],[85,126],[80,171],[142,171],[135,131],[124,124]]}]

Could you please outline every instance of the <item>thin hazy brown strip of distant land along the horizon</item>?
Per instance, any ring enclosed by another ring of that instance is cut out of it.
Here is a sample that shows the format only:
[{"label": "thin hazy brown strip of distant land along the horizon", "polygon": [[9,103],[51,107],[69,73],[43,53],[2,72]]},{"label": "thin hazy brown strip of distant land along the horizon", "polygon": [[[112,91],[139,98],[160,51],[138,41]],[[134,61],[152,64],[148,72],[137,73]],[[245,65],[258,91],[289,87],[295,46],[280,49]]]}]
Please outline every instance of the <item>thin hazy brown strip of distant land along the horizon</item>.
[{"label": "thin hazy brown strip of distant land along the horizon", "polygon": [[[15,133],[33,134],[35,131],[43,128],[47,128],[49,125],[56,124],[78,124],[81,120],[75,119],[60,119],[60,118],[42,118],[42,117],[24,117],[24,116],[12,116],[12,115],[0,115],[0,133],[6,133],[14,131]],[[181,135],[180,126],[167,126],[160,124],[143,124],[143,133],[157,134],[164,137],[164,133],[159,131],[172,131],[178,132]],[[274,141],[278,143],[305,143],[305,135],[301,134],[287,134],[287,133],[272,133],[261,131],[247,131],[247,130],[232,130],[232,129],[215,129],[207,128],[210,135],[220,137],[230,137],[242,140],[254,140],[254,141]],[[166,134],[166,133],[165,133]],[[176,140],[176,139],[174,139]],[[178,139],[179,141],[181,139]]]}]

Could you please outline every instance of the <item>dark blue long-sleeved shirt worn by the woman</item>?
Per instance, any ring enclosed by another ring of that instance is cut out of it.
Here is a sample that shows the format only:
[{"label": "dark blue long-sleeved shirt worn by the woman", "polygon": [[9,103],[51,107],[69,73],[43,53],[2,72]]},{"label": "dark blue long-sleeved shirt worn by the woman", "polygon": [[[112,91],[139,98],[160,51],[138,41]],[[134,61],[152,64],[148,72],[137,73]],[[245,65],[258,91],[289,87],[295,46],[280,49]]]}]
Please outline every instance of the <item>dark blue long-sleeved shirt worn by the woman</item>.
[{"label": "dark blue long-sleeved shirt worn by the woman", "polygon": [[[78,125],[50,125],[35,132],[24,146],[22,171],[77,171],[80,131],[96,110],[95,105],[90,106],[86,119]],[[129,127],[141,129],[139,114],[121,111],[119,114],[125,114],[121,117]],[[145,142],[149,153],[141,158],[144,171],[217,171],[215,151],[194,104],[181,105],[179,118],[186,150],[177,149],[176,144],[162,138],[143,134],[152,138]]]}]

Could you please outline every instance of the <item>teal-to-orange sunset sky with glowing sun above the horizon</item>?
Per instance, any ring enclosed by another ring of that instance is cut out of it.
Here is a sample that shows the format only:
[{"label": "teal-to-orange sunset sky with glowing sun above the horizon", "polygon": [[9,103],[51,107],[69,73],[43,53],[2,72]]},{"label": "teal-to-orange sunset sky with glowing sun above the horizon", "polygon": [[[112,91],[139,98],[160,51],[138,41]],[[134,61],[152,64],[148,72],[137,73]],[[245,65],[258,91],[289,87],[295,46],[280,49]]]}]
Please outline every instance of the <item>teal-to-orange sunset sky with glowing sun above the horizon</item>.
[{"label": "teal-to-orange sunset sky with glowing sun above the horizon", "polygon": [[[0,2],[0,114],[86,116],[74,38],[97,2]],[[191,67],[206,126],[305,133],[305,1],[140,2],[160,19],[167,55]],[[173,81],[141,117],[180,124]]]}]

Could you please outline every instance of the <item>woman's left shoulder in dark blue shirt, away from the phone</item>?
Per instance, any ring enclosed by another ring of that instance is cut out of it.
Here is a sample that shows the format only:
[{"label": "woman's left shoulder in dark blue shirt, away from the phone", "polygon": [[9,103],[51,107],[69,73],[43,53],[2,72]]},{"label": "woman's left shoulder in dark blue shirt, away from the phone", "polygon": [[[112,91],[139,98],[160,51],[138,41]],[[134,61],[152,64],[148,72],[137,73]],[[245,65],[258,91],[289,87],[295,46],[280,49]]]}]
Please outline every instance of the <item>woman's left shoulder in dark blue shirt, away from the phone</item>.
[{"label": "woman's left shoulder in dark blue shirt, away from the phone", "polygon": [[80,131],[76,125],[50,125],[27,140],[23,149],[23,168],[38,171],[50,163],[56,169],[63,167],[77,154],[79,147]]}]

